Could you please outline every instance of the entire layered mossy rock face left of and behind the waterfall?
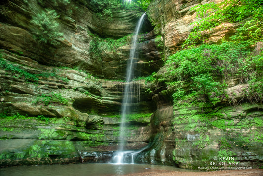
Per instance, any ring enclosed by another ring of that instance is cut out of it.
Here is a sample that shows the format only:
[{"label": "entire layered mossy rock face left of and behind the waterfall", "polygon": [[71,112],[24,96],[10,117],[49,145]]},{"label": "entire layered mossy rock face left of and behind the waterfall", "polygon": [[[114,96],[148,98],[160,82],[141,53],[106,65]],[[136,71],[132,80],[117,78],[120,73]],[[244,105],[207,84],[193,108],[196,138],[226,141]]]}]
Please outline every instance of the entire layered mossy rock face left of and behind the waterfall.
[{"label": "entire layered mossy rock face left of and behind the waterfall", "polygon": [[[106,162],[117,150],[123,79],[142,12],[116,11],[107,21],[87,7],[82,0],[0,3],[1,166],[79,162],[78,150],[85,162]],[[57,31],[41,28],[63,37],[41,41],[33,22],[39,15],[58,24]],[[145,23],[142,32],[149,33],[139,36],[137,76],[150,75],[163,63],[156,34]],[[126,148],[138,149],[150,139],[156,106],[145,80],[130,84]]]}]

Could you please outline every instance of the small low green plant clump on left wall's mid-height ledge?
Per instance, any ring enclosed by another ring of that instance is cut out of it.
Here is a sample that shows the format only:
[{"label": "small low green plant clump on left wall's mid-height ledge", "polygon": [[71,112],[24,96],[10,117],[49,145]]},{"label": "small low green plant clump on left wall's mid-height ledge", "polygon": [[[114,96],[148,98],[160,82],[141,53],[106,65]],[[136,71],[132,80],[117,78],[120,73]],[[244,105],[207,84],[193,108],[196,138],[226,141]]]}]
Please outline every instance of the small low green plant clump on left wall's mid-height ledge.
[{"label": "small low green plant clump on left wall's mid-height ledge", "polygon": [[33,101],[33,103],[35,103],[35,104],[43,103],[45,106],[47,106],[49,104],[54,104],[54,103],[58,103],[58,104],[62,104],[62,105],[68,105],[68,102],[69,101],[67,99],[65,99],[64,97],[62,97],[61,94],[53,93],[53,92],[51,92],[51,94],[38,95],[36,100]]}]

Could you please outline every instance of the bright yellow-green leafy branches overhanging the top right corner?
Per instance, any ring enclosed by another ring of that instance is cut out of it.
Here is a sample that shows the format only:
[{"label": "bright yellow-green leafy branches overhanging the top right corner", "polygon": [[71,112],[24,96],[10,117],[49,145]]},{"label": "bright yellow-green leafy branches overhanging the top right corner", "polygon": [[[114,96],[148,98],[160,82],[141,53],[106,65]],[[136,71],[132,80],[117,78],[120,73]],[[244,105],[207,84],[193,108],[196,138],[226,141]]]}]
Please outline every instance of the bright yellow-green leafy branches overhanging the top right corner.
[{"label": "bright yellow-green leafy branches overhanging the top right corner", "polygon": [[206,36],[203,36],[201,31],[210,30],[225,22],[239,22],[248,17],[251,17],[251,20],[237,29],[237,34],[232,39],[240,41],[248,38],[251,42],[255,42],[262,38],[262,22],[260,22],[263,19],[262,0],[224,0],[217,4],[211,2],[197,5],[191,10],[197,11],[197,20],[183,47],[204,42]]}]

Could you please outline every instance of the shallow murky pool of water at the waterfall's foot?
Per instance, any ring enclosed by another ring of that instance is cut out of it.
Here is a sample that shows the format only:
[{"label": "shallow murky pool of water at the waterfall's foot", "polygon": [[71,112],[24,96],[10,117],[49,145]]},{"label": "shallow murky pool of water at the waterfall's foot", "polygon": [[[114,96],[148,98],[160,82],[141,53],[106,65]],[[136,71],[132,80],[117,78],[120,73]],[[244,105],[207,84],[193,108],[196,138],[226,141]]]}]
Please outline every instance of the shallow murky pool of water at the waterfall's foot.
[{"label": "shallow murky pool of water at the waterfall's foot", "polygon": [[0,176],[120,176],[160,170],[190,171],[172,166],[89,163],[0,168]]}]

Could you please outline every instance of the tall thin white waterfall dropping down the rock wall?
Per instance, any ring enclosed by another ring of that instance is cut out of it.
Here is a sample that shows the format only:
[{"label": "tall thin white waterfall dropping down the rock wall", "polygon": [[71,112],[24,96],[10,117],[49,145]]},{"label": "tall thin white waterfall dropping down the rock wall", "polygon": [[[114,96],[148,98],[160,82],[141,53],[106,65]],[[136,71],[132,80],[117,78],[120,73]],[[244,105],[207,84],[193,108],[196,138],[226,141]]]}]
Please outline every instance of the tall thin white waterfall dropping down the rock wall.
[{"label": "tall thin white waterfall dropping down the rock wall", "polygon": [[[132,46],[130,50],[130,56],[129,56],[129,62],[127,64],[127,70],[126,70],[126,84],[124,87],[124,97],[122,100],[122,106],[121,106],[121,124],[120,124],[120,136],[119,136],[119,147],[118,147],[118,152],[117,154],[113,157],[113,162],[117,164],[124,163],[125,160],[125,154],[129,153],[132,156],[132,163],[134,163],[134,154],[132,151],[123,151],[124,145],[125,145],[125,138],[124,138],[124,133],[125,133],[125,120],[126,120],[126,115],[130,111],[129,106],[132,103],[132,97],[130,93],[132,93],[133,88],[132,84],[130,83],[131,79],[133,79],[134,76],[134,57],[136,54],[136,45],[137,45],[137,38],[138,38],[138,33],[142,27],[143,24],[143,19],[144,19],[145,13],[141,16],[139,19],[136,28],[135,28],[135,33],[132,41]],[[137,152],[135,152],[137,154]]]}]

